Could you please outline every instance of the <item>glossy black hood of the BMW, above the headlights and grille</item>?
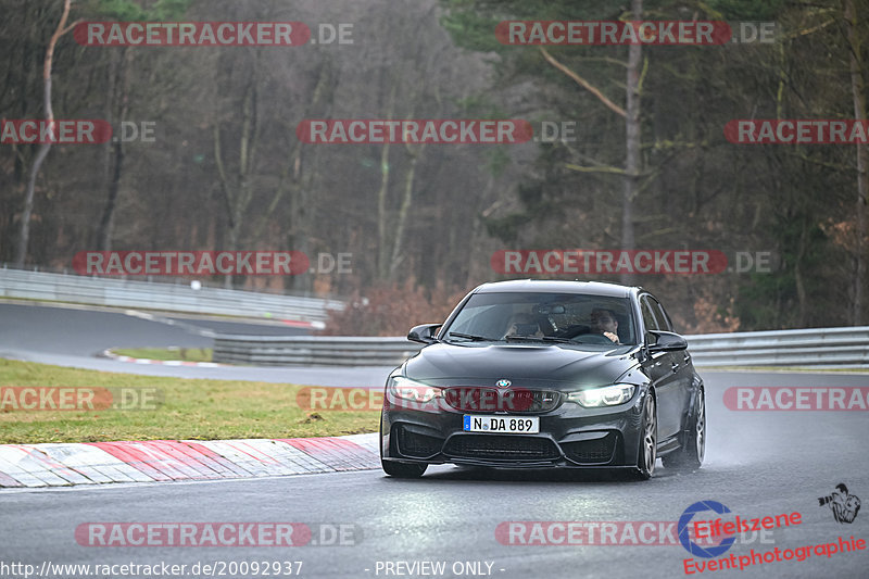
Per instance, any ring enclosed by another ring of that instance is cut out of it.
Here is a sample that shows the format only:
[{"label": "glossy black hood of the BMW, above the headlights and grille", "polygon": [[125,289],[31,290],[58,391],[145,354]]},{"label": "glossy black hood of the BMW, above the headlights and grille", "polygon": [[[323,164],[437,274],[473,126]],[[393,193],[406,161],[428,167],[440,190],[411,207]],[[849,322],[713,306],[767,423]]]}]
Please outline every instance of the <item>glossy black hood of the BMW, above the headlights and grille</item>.
[{"label": "glossy black hood of the BMW, above the headlights and grille", "polygon": [[408,378],[431,386],[494,386],[507,379],[516,386],[569,382],[570,386],[613,383],[637,366],[634,347],[578,349],[559,344],[448,344],[424,348],[407,361]]}]

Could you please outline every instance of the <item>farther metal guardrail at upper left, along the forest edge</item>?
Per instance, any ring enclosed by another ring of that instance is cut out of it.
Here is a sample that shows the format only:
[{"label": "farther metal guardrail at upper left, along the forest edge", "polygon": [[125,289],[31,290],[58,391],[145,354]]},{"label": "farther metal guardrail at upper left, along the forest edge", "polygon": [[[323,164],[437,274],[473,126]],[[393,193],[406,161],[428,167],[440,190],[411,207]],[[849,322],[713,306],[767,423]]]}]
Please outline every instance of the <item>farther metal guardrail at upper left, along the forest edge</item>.
[{"label": "farther metal guardrail at upper left, along the forest edge", "polygon": [[329,310],[341,310],[337,300],[277,293],[227,290],[203,286],[131,281],[45,272],[0,268],[0,297],[75,302],[115,307],[144,307],[249,317],[274,317],[322,326]]}]

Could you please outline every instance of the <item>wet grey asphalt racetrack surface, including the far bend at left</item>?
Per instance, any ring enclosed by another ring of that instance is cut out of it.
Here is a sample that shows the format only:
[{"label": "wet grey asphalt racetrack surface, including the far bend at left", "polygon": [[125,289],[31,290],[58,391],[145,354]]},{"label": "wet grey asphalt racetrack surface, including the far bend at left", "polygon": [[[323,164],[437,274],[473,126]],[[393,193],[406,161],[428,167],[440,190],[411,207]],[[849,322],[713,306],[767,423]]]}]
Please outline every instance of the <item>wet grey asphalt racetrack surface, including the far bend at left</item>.
[{"label": "wet grey asphalt racetrack surface, including the far bend at left", "polygon": [[[116,331],[149,340],[130,345],[168,345],[154,342],[161,337],[176,340],[175,345],[187,345],[177,343],[181,339],[174,333],[177,328],[147,328],[138,326],[143,320],[121,318],[91,319],[93,323],[68,326],[52,331],[53,337],[40,339],[37,332],[43,326],[22,326],[22,320],[35,315],[22,312],[15,312],[17,317],[13,319],[18,320],[17,328],[24,333],[11,336],[8,307],[0,305],[0,355],[37,348],[29,355],[55,356],[54,363],[59,363],[59,355],[76,358],[89,348],[104,348],[105,340],[116,339]],[[97,325],[103,323],[108,326]],[[74,347],[68,345],[71,340]],[[61,342],[67,343],[70,350],[58,352],[56,344]],[[199,368],[166,369],[182,374]],[[492,576],[517,579],[685,577],[682,565],[689,554],[680,545],[505,545],[496,540],[495,528],[500,523],[515,520],[672,521],[700,500],[721,502],[743,517],[794,511],[802,514],[801,525],[772,533],[768,540],[774,543],[761,543],[755,538],[748,544],[736,543],[725,556],[745,555],[751,549],[784,550],[827,543],[840,536],[869,540],[869,506],[864,505],[855,521],[846,525],[836,523],[831,511],[819,506],[817,500],[840,482],[845,482],[864,502],[869,500],[866,412],[733,412],[725,407],[721,398],[731,386],[869,386],[869,376],[701,374],[707,387],[709,441],[706,463],[693,475],[668,473],[660,463],[656,476],[646,482],[569,473],[492,473],[444,466],[430,469],[415,481],[389,479],[380,471],[358,471],[242,481],[9,490],[0,492],[0,569],[2,563],[17,562],[40,567],[43,562],[192,565],[302,561],[302,577],[364,578],[412,576],[385,575],[382,570],[376,574],[378,562],[432,561],[445,562],[445,572],[427,577],[480,577],[454,575],[451,566],[458,562],[489,562],[493,564]],[[333,380],[345,378],[335,376]],[[344,546],[77,544],[76,526],[93,521],[352,524],[361,537],[356,544]],[[483,564],[483,572],[486,568]],[[9,571],[0,576],[23,577],[7,575]],[[869,551],[835,554],[831,558],[813,554],[804,562],[767,563],[743,571],[707,571],[703,576],[865,578],[869,577]],[[254,575],[227,571],[225,577]]]}]

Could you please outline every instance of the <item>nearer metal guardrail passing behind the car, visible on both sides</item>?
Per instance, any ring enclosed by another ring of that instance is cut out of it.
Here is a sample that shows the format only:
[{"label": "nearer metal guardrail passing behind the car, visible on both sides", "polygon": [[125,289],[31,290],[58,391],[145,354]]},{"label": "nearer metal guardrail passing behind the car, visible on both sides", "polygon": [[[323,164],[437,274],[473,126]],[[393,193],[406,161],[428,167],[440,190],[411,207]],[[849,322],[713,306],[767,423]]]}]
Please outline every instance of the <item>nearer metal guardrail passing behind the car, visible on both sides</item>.
[{"label": "nearer metal guardrail passing behind the car, visible on both sides", "polygon": [[[869,367],[869,327],[685,336],[694,365]],[[214,361],[398,366],[421,344],[404,338],[216,336]]]}]

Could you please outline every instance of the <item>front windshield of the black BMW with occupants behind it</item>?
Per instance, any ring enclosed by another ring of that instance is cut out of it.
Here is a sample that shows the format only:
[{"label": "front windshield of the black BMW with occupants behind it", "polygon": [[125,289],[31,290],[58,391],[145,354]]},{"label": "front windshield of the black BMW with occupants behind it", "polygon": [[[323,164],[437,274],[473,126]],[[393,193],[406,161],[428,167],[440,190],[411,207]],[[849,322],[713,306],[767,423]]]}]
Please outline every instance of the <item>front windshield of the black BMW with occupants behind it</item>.
[{"label": "front windshield of the black BMW with occupants behind it", "polygon": [[443,330],[449,341],[634,344],[628,298],[575,293],[475,293]]}]

